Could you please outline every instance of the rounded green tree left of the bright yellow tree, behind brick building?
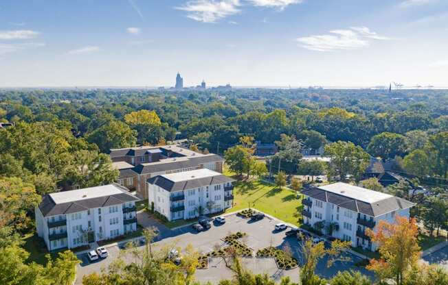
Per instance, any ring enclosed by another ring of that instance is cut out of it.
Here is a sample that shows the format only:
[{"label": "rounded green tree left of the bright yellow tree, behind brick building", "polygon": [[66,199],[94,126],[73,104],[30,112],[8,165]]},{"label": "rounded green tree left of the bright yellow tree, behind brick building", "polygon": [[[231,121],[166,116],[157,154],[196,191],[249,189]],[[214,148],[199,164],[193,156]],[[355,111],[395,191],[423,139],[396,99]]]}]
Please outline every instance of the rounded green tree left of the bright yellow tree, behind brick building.
[{"label": "rounded green tree left of the bright yellow tree, behind brick building", "polygon": [[98,145],[100,151],[107,153],[109,149],[134,147],[137,143],[137,132],[126,123],[109,121],[91,132],[87,140]]}]

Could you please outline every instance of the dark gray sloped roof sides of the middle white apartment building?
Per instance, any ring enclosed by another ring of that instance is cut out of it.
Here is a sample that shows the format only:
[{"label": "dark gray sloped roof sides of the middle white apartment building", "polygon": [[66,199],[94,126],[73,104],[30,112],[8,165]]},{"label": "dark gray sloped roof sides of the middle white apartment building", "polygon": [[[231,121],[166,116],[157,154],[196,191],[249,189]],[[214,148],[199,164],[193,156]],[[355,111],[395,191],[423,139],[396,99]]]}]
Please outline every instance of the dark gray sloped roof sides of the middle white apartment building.
[{"label": "dark gray sloped roof sides of the middle white apartment building", "polygon": [[187,190],[192,188],[199,188],[203,186],[210,186],[215,184],[222,184],[227,182],[234,182],[235,180],[227,177],[225,175],[215,175],[212,177],[201,177],[196,179],[188,179],[179,182],[173,182],[170,179],[162,175],[158,175],[155,177],[151,177],[147,180],[148,183],[157,185],[161,188],[164,188],[167,191],[179,191],[179,190]]}]

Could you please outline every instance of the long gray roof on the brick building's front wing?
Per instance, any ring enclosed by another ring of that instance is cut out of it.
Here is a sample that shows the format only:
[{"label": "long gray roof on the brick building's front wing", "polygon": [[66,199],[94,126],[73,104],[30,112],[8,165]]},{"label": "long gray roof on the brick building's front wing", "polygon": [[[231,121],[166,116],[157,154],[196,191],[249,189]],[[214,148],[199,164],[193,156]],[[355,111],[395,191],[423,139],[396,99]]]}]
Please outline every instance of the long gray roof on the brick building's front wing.
[{"label": "long gray roof on the brick building's front wing", "polygon": [[159,162],[149,162],[142,163],[133,169],[136,173],[139,174],[148,174],[148,173],[156,173],[156,172],[164,172],[176,169],[186,169],[194,166],[198,166],[199,164],[205,164],[210,162],[221,162],[224,161],[221,156],[216,154],[210,154],[205,156],[193,156],[185,159],[175,160],[174,158],[160,160]]}]

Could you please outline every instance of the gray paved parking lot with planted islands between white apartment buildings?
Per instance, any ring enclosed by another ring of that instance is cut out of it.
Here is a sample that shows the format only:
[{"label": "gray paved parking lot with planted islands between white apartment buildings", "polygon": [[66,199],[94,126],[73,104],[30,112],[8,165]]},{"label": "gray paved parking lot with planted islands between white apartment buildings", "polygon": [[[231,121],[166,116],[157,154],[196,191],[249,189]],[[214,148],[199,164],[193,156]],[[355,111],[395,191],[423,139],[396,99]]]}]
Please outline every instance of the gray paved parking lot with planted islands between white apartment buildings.
[{"label": "gray paved parking lot with planted islands between white apartment buildings", "polygon": [[[223,242],[221,238],[227,236],[229,233],[234,232],[246,232],[247,238],[243,242],[254,249],[254,253],[258,249],[264,247],[269,247],[270,245],[274,247],[284,248],[288,246],[293,252],[293,256],[302,262],[301,255],[301,245],[297,238],[286,237],[284,232],[273,232],[273,227],[278,221],[265,218],[261,221],[251,222],[246,219],[241,219],[236,215],[231,215],[226,217],[227,222],[224,225],[212,225],[212,228],[206,232],[195,232],[192,227],[182,227],[177,230],[169,230],[166,227],[161,227],[160,234],[157,237],[154,245],[156,247],[162,247],[164,245],[176,245],[177,247],[186,247],[187,245],[192,245],[195,249],[202,253],[207,253],[212,251],[214,245],[222,245]],[[157,227],[157,224],[154,224]],[[115,258],[120,256],[124,250],[118,247],[109,247],[109,257],[104,260],[99,260],[97,262],[90,263],[86,255],[79,256],[82,260],[82,264],[78,268],[78,276],[76,284],[82,283],[82,276],[93,272],[100,272],[102,268],[107,268],[109,264]],[[351,262],[336,262],[333,267],[326,267],[326,260],[321,260],[317,264],[317,273],[320,273],[322,277],[331,277],[337,273],[337,271],[344,271],[348,269],[360,270],[366,275],[372,276],[372,274],[366,269],[355,267],[354,262],[358,261],[359,258],[355,256],[350,256],[352,258]],[[279,270],[276,267],[275,262],[271,259],[260,259],[260,258],[249,258],[245,260],[245,264],[248,269],[254,271],[254,273],[267,273],[276,280],[280,277],[289,275],[293,281],[297,281],[299,277],[298,269],[291,269],[289,271]],[[210,281],[215,283],[222,278],[231,278],[232,272],[223,267],[220,264],[219,259],[216,262],[211,262],[209,269],[203,269],[197,271],[197,280],[207,282]]]}]

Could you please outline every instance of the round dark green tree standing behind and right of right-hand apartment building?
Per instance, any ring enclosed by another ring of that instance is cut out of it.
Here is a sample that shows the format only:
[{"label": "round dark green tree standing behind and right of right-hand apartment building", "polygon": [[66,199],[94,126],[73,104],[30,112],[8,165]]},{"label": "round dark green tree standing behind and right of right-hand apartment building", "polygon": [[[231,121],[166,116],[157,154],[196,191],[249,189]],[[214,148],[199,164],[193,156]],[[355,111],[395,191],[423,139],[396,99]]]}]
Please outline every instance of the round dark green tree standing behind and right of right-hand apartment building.
[{"label": "round dark green tree standing behind and right of right-hand apartment building", "polygon": [[379,156],[383,160],[403,156],[407,151],[407,140],[401,134],[383,132],[373,136],[367,146],[367,151],[372,156]]}]

